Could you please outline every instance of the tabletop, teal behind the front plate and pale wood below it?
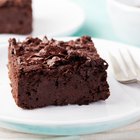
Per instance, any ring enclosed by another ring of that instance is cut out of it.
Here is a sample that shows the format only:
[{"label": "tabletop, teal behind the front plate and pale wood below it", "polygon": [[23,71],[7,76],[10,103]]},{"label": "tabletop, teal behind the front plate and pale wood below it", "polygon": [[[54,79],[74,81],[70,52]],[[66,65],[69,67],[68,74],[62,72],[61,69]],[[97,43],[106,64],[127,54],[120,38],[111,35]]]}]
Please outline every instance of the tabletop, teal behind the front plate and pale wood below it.
[{"label": "tabletop, teal behind the front plate and pale wood below it", "polygon": [[[120,41],[113,32],[108,16],[106,0],[73,0],[80,5],[86,13],[84,26],[72,36],[90,35]],[[41,136],[18,133],[0,128],[0,140],[138,140],[140,139],[140,122],[112,131],[73,137]]]}]

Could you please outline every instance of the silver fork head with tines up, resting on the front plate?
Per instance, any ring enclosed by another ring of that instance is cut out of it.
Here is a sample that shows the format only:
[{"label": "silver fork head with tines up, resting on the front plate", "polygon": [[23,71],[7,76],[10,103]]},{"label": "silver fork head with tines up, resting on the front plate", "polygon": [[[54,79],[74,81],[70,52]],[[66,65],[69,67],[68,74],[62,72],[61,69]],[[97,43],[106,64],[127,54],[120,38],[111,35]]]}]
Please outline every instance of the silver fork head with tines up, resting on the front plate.
[{"label": "silver fork head with tines up, resting on the front plate", "polygon": [[[119,60],[117,60],[117,58],[114,55],[109,53],[115,79],[123,84],[140,82],[140,66],[136,63],[129,50],[127,50],[126,52],[128,57],[127,60],[122,54],[122,52],[119,50],[120,59],[123,64],[123,68],[119,63]],[[134,71],[132,70],[132,66],[130,66],[130,62],[134,68],[133,69]]]}]

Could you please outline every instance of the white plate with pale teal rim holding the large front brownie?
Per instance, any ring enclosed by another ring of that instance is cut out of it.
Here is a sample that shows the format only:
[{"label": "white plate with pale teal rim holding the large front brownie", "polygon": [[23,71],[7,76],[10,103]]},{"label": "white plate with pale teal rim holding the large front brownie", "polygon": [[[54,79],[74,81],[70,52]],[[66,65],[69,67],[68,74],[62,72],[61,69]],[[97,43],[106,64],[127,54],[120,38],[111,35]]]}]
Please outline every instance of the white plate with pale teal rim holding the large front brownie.
[{"label": "white plate with pale teal rim holding the large front brownie", "polygon": [[[68,40],[73,38],[59,38]],[[140,49],[93,39],[99,53],[109,63],[108,52],[116,56],[118,49],[128,48],[140,60]],[[15,105],[9,86],[7,71],[7,44],[0,44],[0,126],[16,131],[50,134],[78,135],[90,134],[118,128],[140,119],[140,85],[123,85],[108,69],[111,96],[106,101],[90,105],[69,105],[23,110]]]}]

